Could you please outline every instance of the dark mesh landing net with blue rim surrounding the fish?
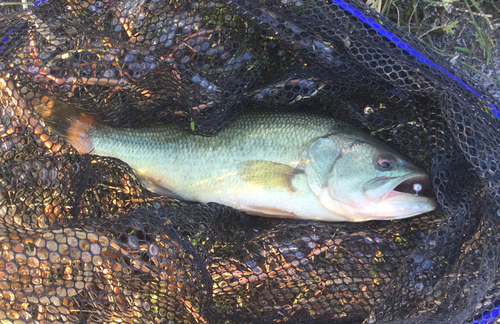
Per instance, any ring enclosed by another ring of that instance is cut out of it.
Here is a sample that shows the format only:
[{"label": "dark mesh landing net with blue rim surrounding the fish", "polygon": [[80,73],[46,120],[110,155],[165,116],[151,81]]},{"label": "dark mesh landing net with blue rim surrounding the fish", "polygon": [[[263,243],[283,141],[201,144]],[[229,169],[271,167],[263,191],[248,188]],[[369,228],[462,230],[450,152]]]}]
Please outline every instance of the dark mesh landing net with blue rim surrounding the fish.
[{"label": "dark mesh landing net with blue rim surrounding the fish", "polygon": [[[361,3],[50,0],[0,35],[2,323],[498,316],[498,103]],[[54,105],[202,136],[254,106],[326,113],[427,168],[440,208],[322,223],[158,197],[50,134]]]}]

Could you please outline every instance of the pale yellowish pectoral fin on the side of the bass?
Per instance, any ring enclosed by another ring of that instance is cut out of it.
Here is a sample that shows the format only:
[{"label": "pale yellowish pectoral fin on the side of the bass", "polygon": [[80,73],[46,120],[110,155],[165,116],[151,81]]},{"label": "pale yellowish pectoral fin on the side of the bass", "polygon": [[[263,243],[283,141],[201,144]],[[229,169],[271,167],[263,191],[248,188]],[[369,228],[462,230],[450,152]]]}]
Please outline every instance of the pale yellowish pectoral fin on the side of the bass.
[{"label": "pale yellowish pectoral fin on the side of the bass", "polygon": [[238,164],[238,175],[249,184],[290,192],[295,191],[293,179],[302,173],[303,170],[269,161],[245,161]]}]

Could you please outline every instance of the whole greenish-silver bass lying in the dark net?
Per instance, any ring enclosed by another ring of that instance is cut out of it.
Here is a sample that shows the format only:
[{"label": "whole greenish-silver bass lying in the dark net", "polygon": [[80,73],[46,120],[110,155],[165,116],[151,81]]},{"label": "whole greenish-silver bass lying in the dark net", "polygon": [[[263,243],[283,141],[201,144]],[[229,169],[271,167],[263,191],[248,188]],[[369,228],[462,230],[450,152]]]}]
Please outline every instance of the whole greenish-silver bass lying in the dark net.
[{"label": "whole greenish-silver bass lying in the dark net", "polygon": [[175,122],[110,127],[67,109],[46,114],[45,122],[80,154],[117,158],[149,191],[183,201],[326,222],[402,219],[437,208],[422,194],[432,189],[424,170],[372,135],[319,114],[247,110],[213,136]]}]

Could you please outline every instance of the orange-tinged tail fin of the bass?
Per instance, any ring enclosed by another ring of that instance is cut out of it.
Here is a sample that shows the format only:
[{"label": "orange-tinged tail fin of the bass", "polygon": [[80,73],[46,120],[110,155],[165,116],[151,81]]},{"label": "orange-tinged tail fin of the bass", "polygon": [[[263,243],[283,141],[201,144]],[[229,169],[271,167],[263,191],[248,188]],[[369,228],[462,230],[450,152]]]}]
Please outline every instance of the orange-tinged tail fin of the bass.
[{"label": "orange-tinged tail fin of the bass", "polygon": [[96,121],[61,101],[36,105],[45,125],[69,142],[80,154],[92,151],[91,133]]}]

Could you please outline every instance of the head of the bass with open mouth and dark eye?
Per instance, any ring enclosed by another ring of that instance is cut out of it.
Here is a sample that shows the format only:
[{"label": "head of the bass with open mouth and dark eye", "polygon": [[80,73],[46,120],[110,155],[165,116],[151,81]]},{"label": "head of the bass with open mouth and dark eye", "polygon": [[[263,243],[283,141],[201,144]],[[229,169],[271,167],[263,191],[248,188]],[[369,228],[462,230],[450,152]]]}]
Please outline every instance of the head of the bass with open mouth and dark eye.
[{"label": "head of the bass with open mouth and dark eye", "polygon": [[360,222],[401,219],[437,208],[435,199],[429,197],[432,186],[428,174],[385,144],[367,137],[332,136],[327,140],[339,148],[330,150],[330,157],[311,159],[331,162],[317,165],[316,171],[323,168],[323,172],[316,172],[308,181],[316,182],[313,191],[332,214]]}]

